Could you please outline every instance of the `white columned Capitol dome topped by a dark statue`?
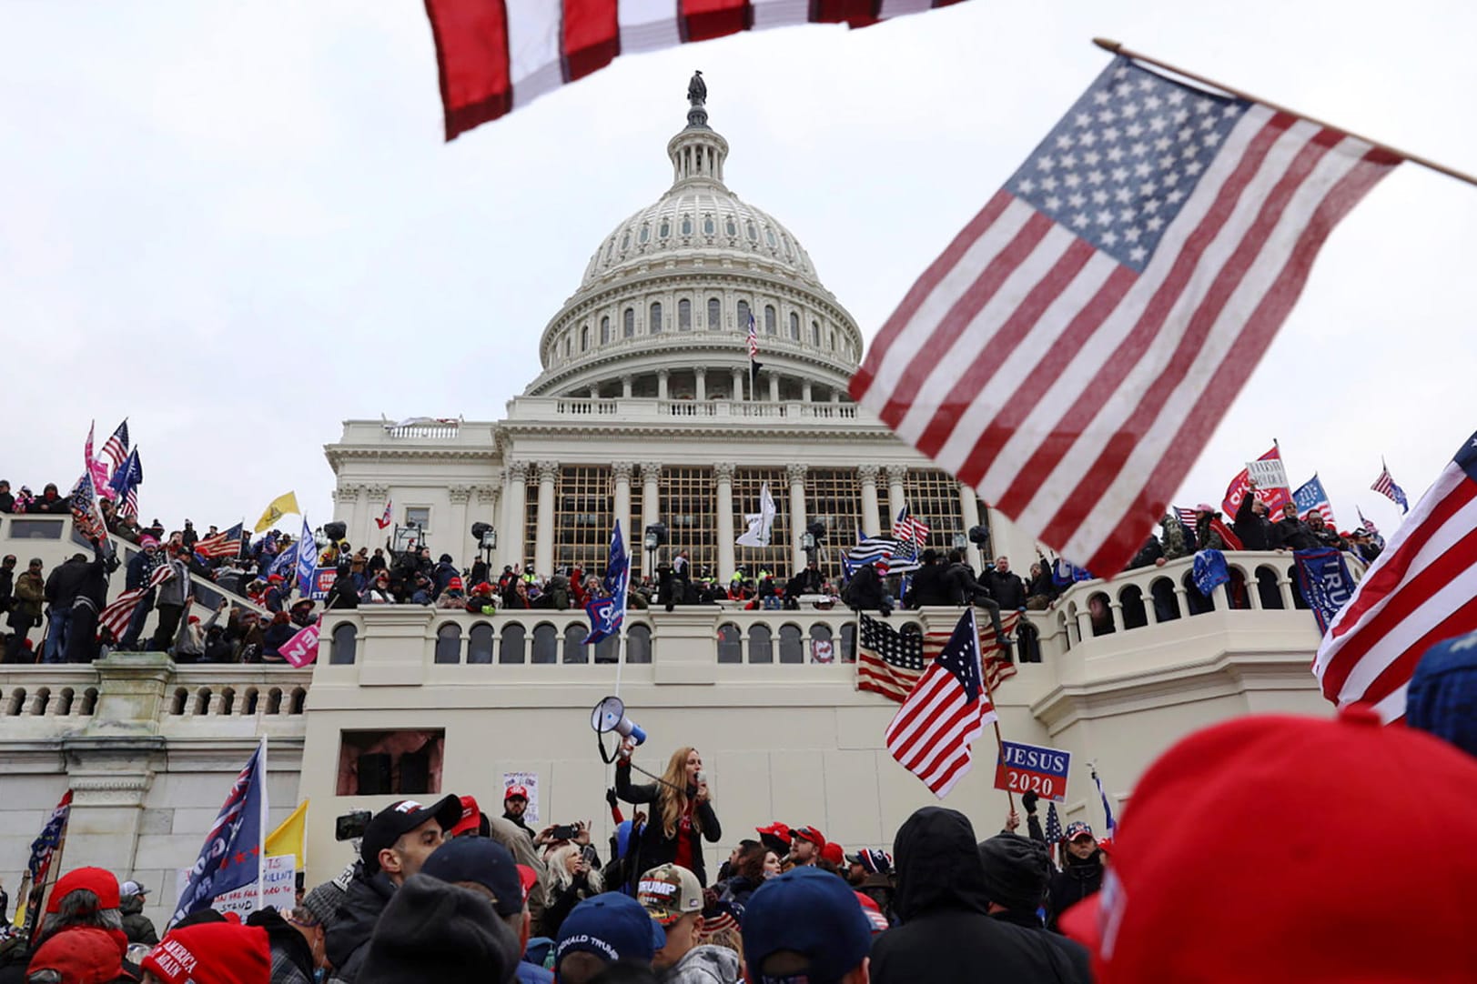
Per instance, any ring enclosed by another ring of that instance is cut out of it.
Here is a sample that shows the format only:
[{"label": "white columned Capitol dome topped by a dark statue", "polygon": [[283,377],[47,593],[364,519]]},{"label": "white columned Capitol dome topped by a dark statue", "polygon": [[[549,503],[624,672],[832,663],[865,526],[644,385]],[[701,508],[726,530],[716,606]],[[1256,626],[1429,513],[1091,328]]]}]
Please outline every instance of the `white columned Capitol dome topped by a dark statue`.
[{"label": "white columned Capitol dome topped by a dark statue", "polygon": [[707,125],[705,102],[691,99],[687,127],[668,142],[672,187],[600,242],[544,329],[544,372],[526,395],[848,398],[861,332],[795,233],[724,183],[728,142]]}]

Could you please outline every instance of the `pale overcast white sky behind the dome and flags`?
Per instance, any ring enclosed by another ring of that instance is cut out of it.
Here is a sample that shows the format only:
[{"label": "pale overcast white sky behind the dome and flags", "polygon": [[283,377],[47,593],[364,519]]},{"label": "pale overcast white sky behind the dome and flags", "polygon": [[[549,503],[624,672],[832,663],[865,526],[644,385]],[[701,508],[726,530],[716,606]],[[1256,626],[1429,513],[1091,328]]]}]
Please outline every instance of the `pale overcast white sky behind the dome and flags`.
[{"label": "pale overcast white sky behind the dome and flags", "polygon": [[[1109,58],[1094,34],[1477,171],[1468,4],[1019,4],[617,59],[442,142],[419,3],[0,6],[0,477],[124,416],[143,516],[315,525],[349,417],[495,420],[589,254],[671,180],[694,68],[727,179],[870,338]],[[1403,165],[1340,226],[1179,502],[1279,438],[1387,533],[1477,428],[1477,187]]]}]

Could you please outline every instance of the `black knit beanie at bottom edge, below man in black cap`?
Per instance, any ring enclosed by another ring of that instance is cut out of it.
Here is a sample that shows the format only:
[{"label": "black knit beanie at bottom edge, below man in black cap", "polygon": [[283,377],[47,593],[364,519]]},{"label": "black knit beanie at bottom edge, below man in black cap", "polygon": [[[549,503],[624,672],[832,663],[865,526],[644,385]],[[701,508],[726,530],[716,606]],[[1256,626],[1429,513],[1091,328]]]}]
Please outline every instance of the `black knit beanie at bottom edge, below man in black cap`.
[{"label": "black knit beanie at bottom edge, below man in black cap", "polygon": [[412,875],[384,907],[357,984],[507,984],[518,940],[492,903],[430,875]]}]

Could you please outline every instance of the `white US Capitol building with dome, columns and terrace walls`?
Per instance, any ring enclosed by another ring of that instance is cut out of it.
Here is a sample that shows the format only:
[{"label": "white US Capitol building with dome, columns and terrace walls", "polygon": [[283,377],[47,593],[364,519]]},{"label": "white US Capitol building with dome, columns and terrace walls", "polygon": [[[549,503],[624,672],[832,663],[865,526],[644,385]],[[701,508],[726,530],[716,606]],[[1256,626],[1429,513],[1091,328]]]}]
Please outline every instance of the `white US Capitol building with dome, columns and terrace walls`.
[{"label": "white US Capitol building with dome, columns and terrace walls", "polygon": [[[325,453],[349,540],[383,543],[374,521],[388,499],[396,527],[461,564],[480,549],[477,522],[496,531],[493,569],[539,574],[603,568],[616,521],[637,544],[663,522],[668,552],[687,549],[721,578],[738,565],[787,575],[805,561],[809,522],[826,524],[821,559],[835,571],[837,549],[858,531],[886,533],[907,505],[931,524],[929,546],[985,525],[993,552],[1024,571],[1028,538],[846,398],[861,332],[790,230],[728,189],[728,143],[700,96],[666,150],[671,189],[598,242],[544,329],[542,372],[504,419],[344,423]],[[777,503],[771,546],[736,547],[765,482]],[[0,516],[0,550],[47,568],[77,550],[69,537],[61,516]],[[635,575],[654,561],[635,549]],[[1309,671],[1319,633],[1298,608],[1291,559],[1227,561],[1261,590],[1223,586],[1211,611],[1192,609],[1183,559],[1074,584],[1050,611],[1027,615],[1041,659],[1021,662],[995,702],[1006,739],[1071,752],[1063,825],[1100,829],[1090,761],[1118,810],[1148,763],[1189,730],[1247,713],[1329,713]],[[117,593],[121,575],[114,581]],[[1146,603],[1151,593],[1173,599],[1170,609]],[[201,584],[196,596],[213,606],[219,593]],[[936,633],[957,618],[899,611],[888,624]],[[933,797],[883,745],[897,705],[855,686],[857,626],[843,609],[632,611],[617,667],[616,640],[585,645],[580,611],[387,605],[325,615],[306,670],[176,665],[162,654],[4,665],[0,882],[16,894],[31,839],[71,789],[62,865],[136,878],[154,890],[148,913],[161,921],[177,870],[193,863],[263,735],[272,822],[310,801],[309,884],[350,857],[334,817],[445,792],[498,813],[508,773],[536,788],[541,822],[594,819],[604,844],[610,773],[589,711],[616,692],[651,736],[638,764],[660,772],[675,748],[702,751],[724,826],[710,865],[774,819],[814,823],[848,850],[891,847]],[[993,788],[994,754],[987,732],[947,800],[981,832],[998,829],[1007,810]]]}]

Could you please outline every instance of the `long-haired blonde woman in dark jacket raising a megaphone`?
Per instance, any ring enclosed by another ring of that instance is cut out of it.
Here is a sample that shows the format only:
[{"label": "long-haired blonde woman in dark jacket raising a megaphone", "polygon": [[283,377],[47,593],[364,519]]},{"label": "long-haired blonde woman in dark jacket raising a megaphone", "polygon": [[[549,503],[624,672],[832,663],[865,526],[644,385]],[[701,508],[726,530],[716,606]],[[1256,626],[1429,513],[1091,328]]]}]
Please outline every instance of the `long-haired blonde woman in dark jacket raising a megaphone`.
[{"label": "long-haired blonde woman in dark jacket raising a megaphone", "polygon": [[716,844],[724,835],[707,794],[703,757],[696,748],[678,748],[666,763],[666,772],[653,783],[631,783],[631,754],[635,742],[620,742],[616,758],[616,795],[626,803],[650,803],[651,819],[637,841],[637,859],[631,866],[632,881],[657,865],[681,865],[702,885],[707,885],[703,865],[703,841]]}]

